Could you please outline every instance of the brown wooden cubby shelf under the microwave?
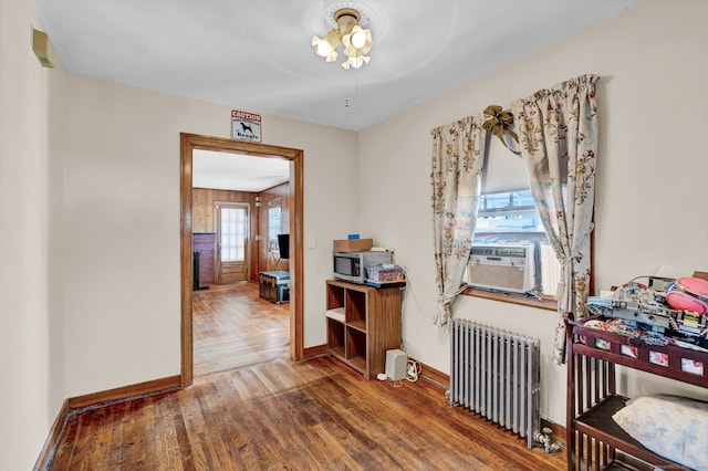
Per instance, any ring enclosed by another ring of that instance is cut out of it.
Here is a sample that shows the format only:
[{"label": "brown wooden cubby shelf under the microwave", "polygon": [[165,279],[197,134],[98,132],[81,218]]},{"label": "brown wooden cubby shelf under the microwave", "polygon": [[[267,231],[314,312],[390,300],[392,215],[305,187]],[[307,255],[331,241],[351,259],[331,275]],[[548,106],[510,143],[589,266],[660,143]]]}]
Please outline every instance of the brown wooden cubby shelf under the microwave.
[{"label": "brown wooden cubby shelf under the microwave", "polygon": [[375,378],[386,350],[400,348],[400,287],[326,282],[327,353]]}]

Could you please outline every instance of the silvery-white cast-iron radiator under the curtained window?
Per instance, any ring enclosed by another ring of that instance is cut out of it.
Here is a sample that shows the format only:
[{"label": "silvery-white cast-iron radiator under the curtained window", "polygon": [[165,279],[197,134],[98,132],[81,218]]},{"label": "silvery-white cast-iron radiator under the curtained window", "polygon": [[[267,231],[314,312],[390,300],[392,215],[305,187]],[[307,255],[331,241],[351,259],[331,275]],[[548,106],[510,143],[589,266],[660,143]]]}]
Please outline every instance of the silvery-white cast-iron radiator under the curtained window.
[{"label": "silvery-white cast-iron radiator under the curtained window", "polygon": [[466,407],[534,443],[541,430],[541,346],[465,320],[450,327],[450,406]]}]

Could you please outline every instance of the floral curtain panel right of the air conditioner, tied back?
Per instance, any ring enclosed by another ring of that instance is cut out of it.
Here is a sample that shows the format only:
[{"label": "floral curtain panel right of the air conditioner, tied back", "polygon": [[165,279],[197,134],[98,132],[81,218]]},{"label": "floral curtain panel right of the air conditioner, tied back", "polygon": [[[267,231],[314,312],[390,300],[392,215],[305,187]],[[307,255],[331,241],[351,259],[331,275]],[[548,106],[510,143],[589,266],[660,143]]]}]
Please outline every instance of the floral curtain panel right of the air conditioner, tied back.
[{"label": "floral curtain panel right of the air conditioner, tied back", "polygon": [[587,315],[597,156],[596,75],[583,75],[511,104],[531,191],[561,262],[553,358],[564,360],[562,314]]}]

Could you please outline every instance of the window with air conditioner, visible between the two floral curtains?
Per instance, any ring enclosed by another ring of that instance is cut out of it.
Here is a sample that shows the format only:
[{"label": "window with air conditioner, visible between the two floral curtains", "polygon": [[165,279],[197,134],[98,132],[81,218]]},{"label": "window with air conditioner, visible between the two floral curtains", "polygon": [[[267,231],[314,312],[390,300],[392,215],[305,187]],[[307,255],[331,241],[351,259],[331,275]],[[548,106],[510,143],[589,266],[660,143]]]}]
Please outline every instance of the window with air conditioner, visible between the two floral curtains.
[{"label": "window with air conditioner, visible between the two floral curtains", "polygon": [[560,265],[535,207],[523,160],[488,142],[477,224],[465,280],[468,294],[554,308]]}]

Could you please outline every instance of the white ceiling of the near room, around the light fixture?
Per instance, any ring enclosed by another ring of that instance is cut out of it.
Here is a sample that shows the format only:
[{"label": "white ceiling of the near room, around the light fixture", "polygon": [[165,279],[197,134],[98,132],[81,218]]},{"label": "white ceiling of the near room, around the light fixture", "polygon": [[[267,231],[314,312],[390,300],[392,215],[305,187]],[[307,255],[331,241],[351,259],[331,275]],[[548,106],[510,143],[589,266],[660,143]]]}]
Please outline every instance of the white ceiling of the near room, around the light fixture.
[{"label": "white ceiling of the near room, around the light fixture", "polygon": [[[637,1],[37,0],[37,7],[70,73],[362,130]],[[358,9],[372,30],[371,63],[358,70],[326,63],[311,46],[342,7]]]}]

